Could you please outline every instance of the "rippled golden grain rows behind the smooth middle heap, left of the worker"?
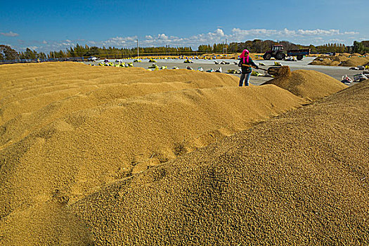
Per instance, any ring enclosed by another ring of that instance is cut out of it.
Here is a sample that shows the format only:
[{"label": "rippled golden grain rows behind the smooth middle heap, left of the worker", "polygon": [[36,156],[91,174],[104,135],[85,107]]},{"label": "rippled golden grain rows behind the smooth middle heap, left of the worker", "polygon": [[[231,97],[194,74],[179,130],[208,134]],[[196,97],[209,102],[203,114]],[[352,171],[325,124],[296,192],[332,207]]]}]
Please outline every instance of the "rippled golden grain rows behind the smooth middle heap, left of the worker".
[{"label": "rippled golden grain rows behind the smooth middle heap, left of the worker", "polygon": [[[70,97],[85,93],[106,103],[115,98],[143,96],[148,93],[177,89],[231,86],[237,79],[229,76],[198,72],[164,70],[148,72],[131,67],[129,72],[117,67],[86,67],[76,63],[41,63],[1,65],[0,70],[0,124],[24,113],[33,112]],[[85,103],[73,103],[76,110]]]}]

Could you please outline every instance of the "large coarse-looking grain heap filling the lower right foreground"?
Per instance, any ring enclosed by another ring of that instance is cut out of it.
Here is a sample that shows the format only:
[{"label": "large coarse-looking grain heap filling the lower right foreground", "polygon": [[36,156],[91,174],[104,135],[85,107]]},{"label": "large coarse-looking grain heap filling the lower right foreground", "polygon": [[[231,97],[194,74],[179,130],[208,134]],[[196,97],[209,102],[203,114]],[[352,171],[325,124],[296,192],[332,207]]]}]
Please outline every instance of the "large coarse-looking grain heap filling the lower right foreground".
[{"label": "large coarse-looking grain heap filling the lower right foreground", "polygon": [[77,202],[96,245],[368,245],[369,80]]}]

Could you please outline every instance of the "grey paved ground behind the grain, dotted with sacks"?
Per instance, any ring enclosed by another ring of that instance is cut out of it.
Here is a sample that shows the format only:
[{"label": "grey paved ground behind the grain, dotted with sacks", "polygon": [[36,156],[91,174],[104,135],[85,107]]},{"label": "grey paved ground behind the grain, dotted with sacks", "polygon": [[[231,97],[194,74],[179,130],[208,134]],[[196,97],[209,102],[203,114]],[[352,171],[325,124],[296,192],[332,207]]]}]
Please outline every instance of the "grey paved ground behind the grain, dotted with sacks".
[{"label": "grey paved ground behind the grain, dotted with sacks", "polygon": [[[300,69],[304,69],[304,70],[316,70],[318,72],[323,72],[326,75],[329,75],[331,77],[334,77],[335,79],[338,79],[339,81],[342,79],[343,75],[349,75],[349,77],[353,78],[354,75],[357,75],[358,73],[361,73],[360,71],[355,71],[355,70],[349,70],[349,67],[328,67],[328,66],[318,66],[318,65],[308,65],[309,63],[311,63],[311,61],[314,58],[312,57],[308,57],[308,58],[304,58],[303,60],[299,60],[296,62],[293,61],[282,61],[282,65],[288,65],[290,66],[291,70],[300,70]],[[115,63],[115,59],[111,59],[111,62]],[[133,60],[123,60],[124,63],[129,63],[132,62]],[[198,69],[198,67],[202,67],[204,70],[209,70],[210,68],[212,68],[213,70],[216,70],[216,68],[221,67],[223,72],[227,72],[227,70],[229,69],[234,69],[234,70],[238,70],[238,66],[233,64],[236,60],[227,60],[225,59],[225,61],[228,61],[229,63],[231,63],[230,65],[215,65],[214,64],[214,60],[193,60],[192,64],[186,64],[183,63],[184,60],[158,60],[157,59],[157,65],[159,67],[161,66],[167,66],[168,69],[171,69],[172,67],[176,66],[179,68],[186,68],[187,66],[192,67],[194,70]],[[221,62],[221,60],[218,60],[219,62]],[[97,61],[94,64],[98,64],[101,61]],[[264,68],[267,68],[269,65],[273,65],[274,64],[274,60],[255,60],[255,63],[259,64],[259,63],[264,63],[266,66]],[[89,64],[89,62],[86,62],[86,64]],[[150,65],[152,65],[152,63],[148,63],[148,60],[142,60],[142,63],[134,63],[135,67],[143,67],[143,68],[148,68]],[[264,72],[262,70],[257,70],[258,72],[261,72],[262,74],[264,74]],[[240,77],[240,75],[234,75],[234,76],[238,76]],[[266,81],[268,81],[269,79],[271,79],[270,77],[251,77],[250,82],[251,84],[262,84]]]}]

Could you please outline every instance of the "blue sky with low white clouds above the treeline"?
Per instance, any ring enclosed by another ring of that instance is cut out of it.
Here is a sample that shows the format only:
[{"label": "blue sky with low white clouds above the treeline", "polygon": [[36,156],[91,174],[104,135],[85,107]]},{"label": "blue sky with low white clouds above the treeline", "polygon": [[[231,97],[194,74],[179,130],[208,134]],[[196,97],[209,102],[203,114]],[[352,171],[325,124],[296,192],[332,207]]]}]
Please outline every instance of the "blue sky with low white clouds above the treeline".
[{"label": "blue sky with low white clouds above the treeline", "polygon": [[298,44],[369,40],[367,0],[4,1],[0,44],[18,51],[192,46],[252,39]]}]

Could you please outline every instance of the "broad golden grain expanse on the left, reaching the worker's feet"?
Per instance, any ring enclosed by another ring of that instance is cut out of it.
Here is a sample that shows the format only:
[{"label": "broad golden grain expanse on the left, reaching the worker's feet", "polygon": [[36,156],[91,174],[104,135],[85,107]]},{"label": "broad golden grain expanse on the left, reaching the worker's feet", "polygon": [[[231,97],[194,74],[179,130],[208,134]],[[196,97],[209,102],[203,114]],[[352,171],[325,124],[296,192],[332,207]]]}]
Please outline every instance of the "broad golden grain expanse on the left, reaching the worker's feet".
[{"label": "broad golden grain expanse on the left, reaching the worker's feet", "polygon": [[0,244],[89,243],[75,202],[306,103],[237,85],[188,70],[1,65]]}]

